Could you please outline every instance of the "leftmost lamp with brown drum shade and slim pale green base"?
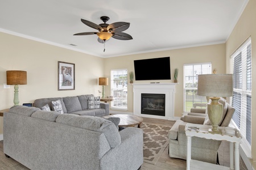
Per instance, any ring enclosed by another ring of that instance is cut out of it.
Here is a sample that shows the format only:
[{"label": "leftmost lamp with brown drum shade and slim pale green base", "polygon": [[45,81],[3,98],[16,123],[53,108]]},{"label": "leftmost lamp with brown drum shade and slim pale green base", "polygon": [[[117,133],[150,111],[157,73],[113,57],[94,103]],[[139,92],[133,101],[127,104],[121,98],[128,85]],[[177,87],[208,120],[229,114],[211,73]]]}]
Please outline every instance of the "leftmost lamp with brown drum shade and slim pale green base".
[{"label": "leftmost lamp with brown drum shade and slim pale green base", "polygon": [[27,84],[27,71],[6,71],[7,85],[14,86],[14,105],[19,105],[19,84]]}]

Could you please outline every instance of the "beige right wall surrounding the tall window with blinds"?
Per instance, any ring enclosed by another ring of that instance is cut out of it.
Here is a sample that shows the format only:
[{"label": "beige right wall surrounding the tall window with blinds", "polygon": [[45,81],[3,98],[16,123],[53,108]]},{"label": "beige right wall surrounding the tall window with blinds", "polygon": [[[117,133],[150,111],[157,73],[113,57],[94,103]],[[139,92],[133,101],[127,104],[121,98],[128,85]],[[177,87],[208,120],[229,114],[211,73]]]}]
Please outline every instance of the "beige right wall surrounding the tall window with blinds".
[{"label": "beige right wall surrounding the tall window with blinds", "polygon": [[[250,0],[238,20],[236,27],[233,29],[229,36],[228,41],[226,41],[226,69],[229,71],[229,58],[232,53],[240,46],[242,43],[251,36],[251,58],[252,58],[252,87],[256,86],[256,1]],[[256,91],[255,88],[251,91],[251,154],[253,160],[256,161]],[[254,169],[256,168],[256,163],[253,163]]]}]

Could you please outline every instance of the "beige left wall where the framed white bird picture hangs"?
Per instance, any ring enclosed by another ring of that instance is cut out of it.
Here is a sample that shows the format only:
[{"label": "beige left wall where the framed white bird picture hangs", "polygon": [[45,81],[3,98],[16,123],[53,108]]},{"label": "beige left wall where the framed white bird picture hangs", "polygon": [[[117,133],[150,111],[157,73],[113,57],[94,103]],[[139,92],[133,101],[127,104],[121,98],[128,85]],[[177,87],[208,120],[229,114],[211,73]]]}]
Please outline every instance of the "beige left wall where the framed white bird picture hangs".
[{"label": "beige left wall where the framed white bird picture hangs", "polygon": [[[57,90],[57,62],[75,63],[75,90]],[[0,110],[13,106],[14,86],[4,89],[6,70],[27,71],[27,85],[19,86],[19,101],[33,103],[43,97],[100,95],[98,77],[104,59],[0,32]],[[0,117],[0,138],[3,118]]]}]

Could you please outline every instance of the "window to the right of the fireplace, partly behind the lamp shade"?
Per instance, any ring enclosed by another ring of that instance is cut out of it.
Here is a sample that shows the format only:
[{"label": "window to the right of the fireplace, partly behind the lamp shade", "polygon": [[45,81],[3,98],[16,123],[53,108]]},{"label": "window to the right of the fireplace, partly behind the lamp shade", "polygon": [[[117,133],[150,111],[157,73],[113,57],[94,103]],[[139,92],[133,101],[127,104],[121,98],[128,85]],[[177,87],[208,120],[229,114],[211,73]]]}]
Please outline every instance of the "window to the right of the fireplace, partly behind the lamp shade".
[{"label": "window to the right of the fireplace, partly behind the lamp shade", "polygon": [[200,74],[211,74],[212,63],[196,63],[183,66],[184,69],[184,112],[190,112],[193,107],[206,107],[205,96],[197,95],[197,81]]}]

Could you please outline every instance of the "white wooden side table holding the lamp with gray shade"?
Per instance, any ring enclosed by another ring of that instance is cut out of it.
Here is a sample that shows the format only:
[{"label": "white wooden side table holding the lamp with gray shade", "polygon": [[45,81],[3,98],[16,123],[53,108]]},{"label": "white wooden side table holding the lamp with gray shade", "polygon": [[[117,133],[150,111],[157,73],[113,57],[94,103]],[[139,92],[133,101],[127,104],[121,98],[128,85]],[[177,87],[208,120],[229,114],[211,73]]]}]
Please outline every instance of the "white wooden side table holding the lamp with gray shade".
[{"label": "white wooden side table holding the lamp with gray shade", "polygon": [[[198,130],[189,130],[189,127],[199,128]],[[187,135],[187,170],[189,169],[240,169],[240,155],[239,155],[239,145],[241,141],[241,134],[238,130],[235,130],[235,134],[225,133],[224,127],[218,127],[222,131],[221,134],[209,133],[209,129],[212,126],[208,125],[198,125],[198,124],[187,124],[185,126],[185,134]],[[230,142],[230,168],[222,167],[217,164],[210,164],[206,162],[201,162],[198,160],[191,160],[191,138],[199,137],[205,139],[213,139],[218,141],[229,141]],[[235,149],[234,149],[235,148]],[[235,167],[234,167],[235,164]]]}]

